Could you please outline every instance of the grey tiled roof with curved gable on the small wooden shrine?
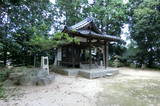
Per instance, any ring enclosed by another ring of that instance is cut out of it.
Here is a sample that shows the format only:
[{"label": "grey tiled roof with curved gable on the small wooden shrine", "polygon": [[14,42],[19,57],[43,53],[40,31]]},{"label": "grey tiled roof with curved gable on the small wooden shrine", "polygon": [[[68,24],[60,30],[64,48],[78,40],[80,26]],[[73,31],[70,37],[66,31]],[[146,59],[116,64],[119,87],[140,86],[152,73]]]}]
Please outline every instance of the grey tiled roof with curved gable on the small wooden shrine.
[{"label": "grey tiled roof with curved gable on the small wooden shrine", "polygon": [[[92,30],[85,29],[86,26],[93,27],[93,29]],[[93,18],[91,17],[86,18],[73,26],[65,27],[63,31],[76,34],[79,36],[83,36],[83,37],[101,38],[101,39],[106,39],[110,41],[122,41],[120,37],[107,35],[99,31],[99,29],[94,24]]]}]

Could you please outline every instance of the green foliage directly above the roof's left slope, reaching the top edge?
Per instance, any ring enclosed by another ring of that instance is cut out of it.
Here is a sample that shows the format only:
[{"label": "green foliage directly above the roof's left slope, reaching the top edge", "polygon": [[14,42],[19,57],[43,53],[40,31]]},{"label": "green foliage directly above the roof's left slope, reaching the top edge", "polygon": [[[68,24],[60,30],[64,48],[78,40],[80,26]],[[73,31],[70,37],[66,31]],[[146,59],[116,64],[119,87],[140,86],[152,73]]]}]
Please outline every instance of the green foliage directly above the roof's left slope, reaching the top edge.
[{"label": "green foliage directly above the roof's left slope, reaching the top edge", "polygon": [[83,17],[83,12],[81,12],[84,1],[85,0],[57,0],[56,7],[59,10],[56,11],[57,16],[55,17],[59,18],[64,16],[65,20],[63,23],[68,26],[75,24],[85,18]]}]

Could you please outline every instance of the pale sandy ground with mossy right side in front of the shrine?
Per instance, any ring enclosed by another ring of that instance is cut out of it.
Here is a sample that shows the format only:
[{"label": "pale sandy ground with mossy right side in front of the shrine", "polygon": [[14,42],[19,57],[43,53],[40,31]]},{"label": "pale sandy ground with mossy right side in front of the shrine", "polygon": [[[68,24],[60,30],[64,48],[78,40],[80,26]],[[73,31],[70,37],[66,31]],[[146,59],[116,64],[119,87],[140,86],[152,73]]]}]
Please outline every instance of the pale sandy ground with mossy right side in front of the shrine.
[{"label": "pale sandy ground with mossy right side in front of the shrine", "polygon": [[160,106],[160,71],[119,71],[92,80],[56,74],[47,86],[10,87],[0,106]]}]

